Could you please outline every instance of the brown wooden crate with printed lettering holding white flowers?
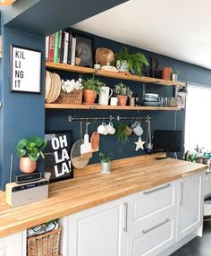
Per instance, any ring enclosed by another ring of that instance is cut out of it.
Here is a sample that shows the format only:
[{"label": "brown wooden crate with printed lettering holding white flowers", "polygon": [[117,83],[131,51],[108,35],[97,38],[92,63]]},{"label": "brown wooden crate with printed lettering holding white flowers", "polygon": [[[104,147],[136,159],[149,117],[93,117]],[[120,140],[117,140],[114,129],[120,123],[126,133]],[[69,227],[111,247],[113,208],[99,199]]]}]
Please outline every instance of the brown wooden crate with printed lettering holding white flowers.
[{"label": "brown wooden crate with printed lettering holding white flowers", "polygon": [[82,103],[82,90],[73,90],[70,93],[65,93],[61,90],[59,98],[56,99],[56,103],[70,103],[70,104],[81,104]]}]

